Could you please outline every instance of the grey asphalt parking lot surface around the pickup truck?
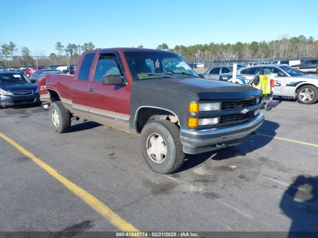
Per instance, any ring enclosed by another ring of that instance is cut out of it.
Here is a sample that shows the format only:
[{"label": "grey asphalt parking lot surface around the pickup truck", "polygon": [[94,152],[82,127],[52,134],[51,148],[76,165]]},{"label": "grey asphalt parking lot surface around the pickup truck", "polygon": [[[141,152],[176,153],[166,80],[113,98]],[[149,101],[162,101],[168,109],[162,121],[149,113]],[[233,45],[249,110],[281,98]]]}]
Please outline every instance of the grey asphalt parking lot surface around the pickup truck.
[{"label": "grey asphalt parking lot surface around the pickup truck", "polygon": [[166,176],[136,134],[82,119],[57,134],[39,106],[1,109],[0,133],[21,150],[0,137],[0,231],[318,231],[318,104],[262,113],[251,141]]}]

